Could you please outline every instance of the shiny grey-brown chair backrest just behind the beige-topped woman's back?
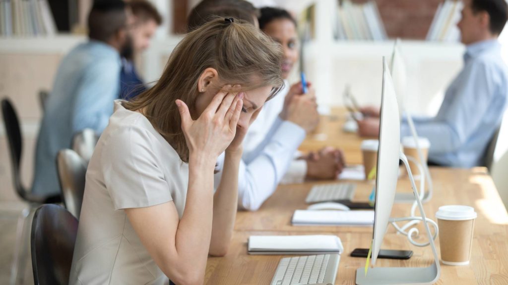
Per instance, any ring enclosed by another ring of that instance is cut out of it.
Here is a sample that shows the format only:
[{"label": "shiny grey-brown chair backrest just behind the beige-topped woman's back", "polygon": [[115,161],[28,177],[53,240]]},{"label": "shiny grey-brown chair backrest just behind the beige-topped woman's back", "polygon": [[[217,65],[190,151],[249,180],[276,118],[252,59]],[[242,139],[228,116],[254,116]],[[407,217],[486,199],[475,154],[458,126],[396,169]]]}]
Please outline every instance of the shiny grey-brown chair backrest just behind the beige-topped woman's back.
[{"label": "shiny grey-brown chair backrest just behind the beige-topped woman's back", "polygon": [[61,150],[56,156],[63,204],[79,220],[87,164],[75,151]]}]

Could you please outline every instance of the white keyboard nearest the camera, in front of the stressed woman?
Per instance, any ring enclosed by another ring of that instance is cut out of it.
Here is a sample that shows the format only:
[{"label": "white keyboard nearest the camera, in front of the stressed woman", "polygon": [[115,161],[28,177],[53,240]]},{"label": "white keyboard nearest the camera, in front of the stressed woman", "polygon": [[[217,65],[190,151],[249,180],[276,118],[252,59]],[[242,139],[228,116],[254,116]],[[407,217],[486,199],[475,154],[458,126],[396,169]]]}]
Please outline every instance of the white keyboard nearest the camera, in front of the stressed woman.
[{"label": "white keyboard nearest the camera, in front of the stressed woman", "polygon": [[280,260],[271,285],[333,284],[340,255],[309,255]]}]

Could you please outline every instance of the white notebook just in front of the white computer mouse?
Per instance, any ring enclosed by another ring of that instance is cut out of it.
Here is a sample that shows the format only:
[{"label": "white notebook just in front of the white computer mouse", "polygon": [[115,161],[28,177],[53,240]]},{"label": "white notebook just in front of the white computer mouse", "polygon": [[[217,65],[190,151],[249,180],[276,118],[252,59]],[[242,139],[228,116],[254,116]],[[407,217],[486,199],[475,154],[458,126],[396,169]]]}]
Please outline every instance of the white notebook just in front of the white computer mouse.
[{"label": "white notebook just in front of the white computer mouse", "polygon": [[374,211],[296,210],[292,223],[295,226],[371,226]]}]

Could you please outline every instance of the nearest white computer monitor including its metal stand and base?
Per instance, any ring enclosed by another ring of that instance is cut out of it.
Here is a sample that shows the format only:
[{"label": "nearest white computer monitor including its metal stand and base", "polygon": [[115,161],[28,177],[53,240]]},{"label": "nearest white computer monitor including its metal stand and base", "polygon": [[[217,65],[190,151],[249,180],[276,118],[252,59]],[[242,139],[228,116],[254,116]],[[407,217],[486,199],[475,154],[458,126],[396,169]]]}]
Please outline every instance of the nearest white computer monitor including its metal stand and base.
[{"label": "nearest white computer monitor including its metal stand and base", "polygon": [[[374,230],[372,236],[372,265],[375,265],[379,250],[383,244],[385,233],[390,223],[390,214],[395,201],[399,159],[409,173],[409,179],[414,195],[417,194],[415,180],[409,169],[404,154],[400,152],[400,120],[397,96],[393,85],[390,69],[383,58],[383,89],[381,95],[381,113],[379,125],[379,151],[377,155],[377,175],[375,192]],[[423,221],[426,221],[421,200],[417,197],[418,206]],[[368,274],[364,268],[359,268],[356,274],[358,285],[387,285],[387,284],[433,284],[439,279],[440,267],[436,248],[429,226],[424,223],[425,231],[431,245],[434,263],[429,267],[377,267],[371,268]]]}]

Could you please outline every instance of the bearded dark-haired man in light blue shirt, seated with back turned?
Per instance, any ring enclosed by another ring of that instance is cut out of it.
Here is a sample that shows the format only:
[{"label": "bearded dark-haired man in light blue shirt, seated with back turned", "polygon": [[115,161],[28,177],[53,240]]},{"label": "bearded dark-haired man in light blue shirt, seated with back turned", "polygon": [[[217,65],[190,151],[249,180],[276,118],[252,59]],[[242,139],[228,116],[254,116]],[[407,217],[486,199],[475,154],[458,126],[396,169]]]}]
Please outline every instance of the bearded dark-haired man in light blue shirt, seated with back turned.
[{"label": "bearded dark-haired man in light blue shirt, seated with back turned", "polygon": [[108,125],[119,94],[130,13],[121,0],[95,1],[88,15],[89,41],[62,59],[37,140],[33,193],[59,193],[58,151],[71,146],[75,133],[85,128],[101,133]]}]

